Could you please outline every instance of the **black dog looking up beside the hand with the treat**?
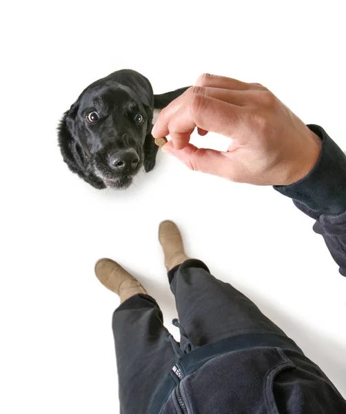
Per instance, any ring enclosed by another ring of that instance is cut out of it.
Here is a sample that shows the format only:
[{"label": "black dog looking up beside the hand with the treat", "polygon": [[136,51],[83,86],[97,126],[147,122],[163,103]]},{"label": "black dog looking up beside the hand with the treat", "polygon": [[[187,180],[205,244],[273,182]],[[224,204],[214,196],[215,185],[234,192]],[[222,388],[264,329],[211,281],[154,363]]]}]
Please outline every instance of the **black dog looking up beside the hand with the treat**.
[{"label": "black dog looking up beside the hand with the treat", "polygon": [[141,166],[146,172],[155,166],[154,109],[186,89],[154,95],[150,82],[128,69],[92,83],[59,123],[63,160],[95,188],[127,188]]}]

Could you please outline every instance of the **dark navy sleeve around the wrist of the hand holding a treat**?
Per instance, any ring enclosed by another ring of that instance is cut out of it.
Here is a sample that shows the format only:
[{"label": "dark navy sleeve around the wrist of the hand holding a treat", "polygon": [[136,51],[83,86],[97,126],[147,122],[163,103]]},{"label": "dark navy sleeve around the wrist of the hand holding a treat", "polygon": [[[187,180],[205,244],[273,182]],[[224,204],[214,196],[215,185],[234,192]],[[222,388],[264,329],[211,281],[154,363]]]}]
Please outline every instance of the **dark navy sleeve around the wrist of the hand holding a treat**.
[{"label": "dark navy sleeve around the wrist of the hand holding a treat", "polygon": [[346,156],[323,128],[308,127],[322,139],[318,161],[300,181],[274,189],[316,219],[314,231],[323,236],[341,275],[346,276]]}]

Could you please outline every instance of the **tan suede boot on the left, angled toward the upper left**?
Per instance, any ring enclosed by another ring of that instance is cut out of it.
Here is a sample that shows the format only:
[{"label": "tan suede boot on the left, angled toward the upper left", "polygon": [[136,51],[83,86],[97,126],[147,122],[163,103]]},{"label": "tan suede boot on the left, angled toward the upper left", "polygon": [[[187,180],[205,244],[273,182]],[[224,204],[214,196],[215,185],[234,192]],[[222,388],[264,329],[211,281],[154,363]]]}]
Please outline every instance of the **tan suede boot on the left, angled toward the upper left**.
[{"label": "tan suede boot on the left, angled toward the upper left", "polygon": [[99,259],[95,264],[95,275],[101,284],[120,296],[121,303],[137,293],[147,295],[139,281],[111,259]]}]

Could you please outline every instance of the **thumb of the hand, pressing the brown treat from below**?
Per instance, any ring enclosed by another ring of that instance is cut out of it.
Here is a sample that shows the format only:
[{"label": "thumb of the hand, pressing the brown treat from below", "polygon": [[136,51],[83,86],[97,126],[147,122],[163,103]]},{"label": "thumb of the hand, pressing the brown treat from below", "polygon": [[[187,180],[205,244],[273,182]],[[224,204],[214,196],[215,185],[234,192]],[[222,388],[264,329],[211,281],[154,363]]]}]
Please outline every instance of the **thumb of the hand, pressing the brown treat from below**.
[{"label": "thumb of the hand, pressing the brown treat from below", "polygon": [[207,148],[197,148],[187,144],[182,150],[176,150],[172,141],[162,147],[162,151],[174,155],[182,161],[190,170],[206,172],[207,174],[218,175],[219,177],[230,177],[230,159],[223,153]]}]

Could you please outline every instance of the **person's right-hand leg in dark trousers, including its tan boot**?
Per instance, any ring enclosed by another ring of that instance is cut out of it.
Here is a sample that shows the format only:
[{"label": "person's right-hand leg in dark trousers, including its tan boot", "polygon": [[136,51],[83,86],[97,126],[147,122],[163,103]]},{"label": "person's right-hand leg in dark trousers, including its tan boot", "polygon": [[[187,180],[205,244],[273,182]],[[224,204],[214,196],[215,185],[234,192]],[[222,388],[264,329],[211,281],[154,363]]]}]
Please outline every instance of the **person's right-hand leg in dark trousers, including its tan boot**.
[{"label": "person's right-hand leg in dark trousers, including its tan boot", "polygon": [[[175,224],[163,221],[159,240],[180,324],[194,346],[243,333],[285,335],[254,302],[230,284],[212,276],[203,262],[188,259]],[[181,342],[182,348],[184,342]]]}]

